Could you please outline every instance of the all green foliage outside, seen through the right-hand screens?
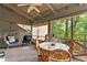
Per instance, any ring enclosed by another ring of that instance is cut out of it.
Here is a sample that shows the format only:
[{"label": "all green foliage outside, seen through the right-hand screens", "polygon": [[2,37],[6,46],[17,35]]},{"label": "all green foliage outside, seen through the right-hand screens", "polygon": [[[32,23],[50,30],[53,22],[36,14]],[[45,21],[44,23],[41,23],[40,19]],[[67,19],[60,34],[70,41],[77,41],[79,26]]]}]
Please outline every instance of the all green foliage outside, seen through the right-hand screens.
[{"label": "all green foliage outside, seen through the right-hand screens", "polygon": [[[55,37],[68,37],[70,39],[70,23],[68,21],[68,28],[66,31],[66,19],[59,19],[52,21],[51,32]],[[67,32],[67,35],[65,34]],[[87,40],[87,17],[74,17],[74,40]]]}]

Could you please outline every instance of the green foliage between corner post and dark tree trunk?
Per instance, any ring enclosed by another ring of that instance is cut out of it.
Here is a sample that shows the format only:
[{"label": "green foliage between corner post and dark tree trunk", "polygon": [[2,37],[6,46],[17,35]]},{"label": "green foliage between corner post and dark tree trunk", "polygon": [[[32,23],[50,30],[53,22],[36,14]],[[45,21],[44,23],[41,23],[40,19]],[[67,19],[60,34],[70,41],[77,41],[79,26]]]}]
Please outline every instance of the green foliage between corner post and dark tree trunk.
[{"label": "green foliage between corner post and dark tree trunk", "polygon": [[65,37],[65,19],[52,21],[52,33],[55,37]]}]

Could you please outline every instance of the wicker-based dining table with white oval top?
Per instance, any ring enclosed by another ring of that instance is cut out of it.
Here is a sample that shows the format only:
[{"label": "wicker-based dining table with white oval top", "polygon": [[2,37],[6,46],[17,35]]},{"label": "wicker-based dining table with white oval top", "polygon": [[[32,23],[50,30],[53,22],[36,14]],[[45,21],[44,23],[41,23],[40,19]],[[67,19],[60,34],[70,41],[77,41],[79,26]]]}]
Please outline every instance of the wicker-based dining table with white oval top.
[{"label": "wicker-based dining table with white oval top", "polygon": [[66,44],[63,44],[63,43],[55,43],[55,44],[53,44],[53,42],[41,43],[40,44],[41,61],[47,62],[51,52],[53,52],[54,50],[57,50],[57,48],[68,51],[69,46],[67,46]]}]

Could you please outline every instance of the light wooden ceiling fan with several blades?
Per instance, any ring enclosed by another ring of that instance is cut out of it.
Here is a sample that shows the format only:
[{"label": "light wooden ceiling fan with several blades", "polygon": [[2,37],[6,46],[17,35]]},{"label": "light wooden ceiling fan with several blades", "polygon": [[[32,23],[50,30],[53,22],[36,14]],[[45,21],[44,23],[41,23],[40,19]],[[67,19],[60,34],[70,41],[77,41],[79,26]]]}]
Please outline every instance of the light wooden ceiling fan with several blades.
[{"label": "light wooden ceiling fan with several blades", "polygon": [[36,12],[41,12],[36,7],[37,6],[42,6],[42,3],[31,3],[31,4],[29,4],[29,3],[21,3],[21,4],[18,4],[18,7],[23,7],[23,6],[29,6],[29,8],[28,8],[28,13],[30,13],[32,10],[35,10]]}]

